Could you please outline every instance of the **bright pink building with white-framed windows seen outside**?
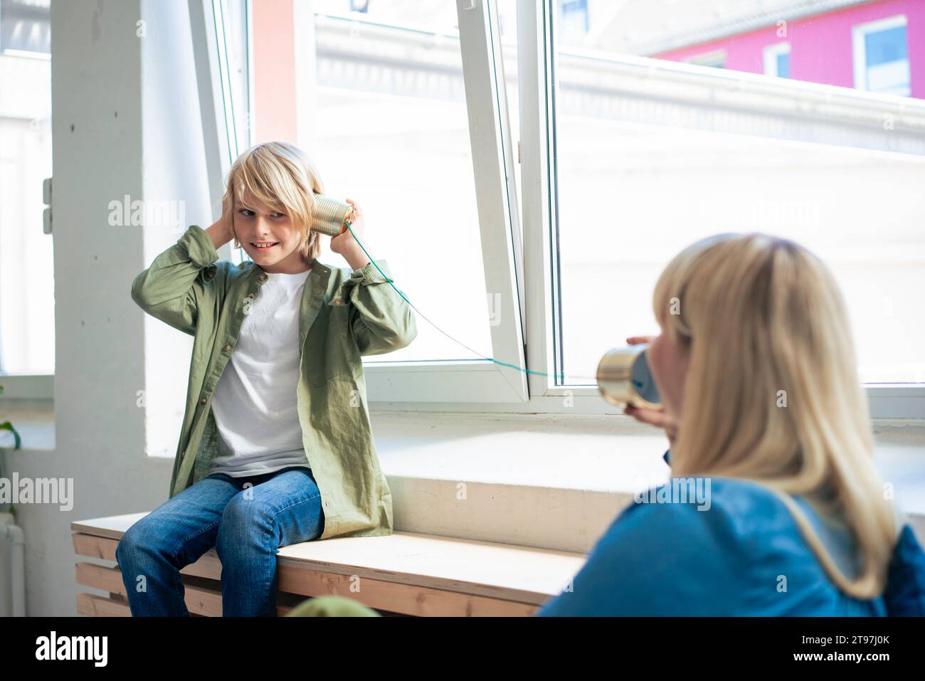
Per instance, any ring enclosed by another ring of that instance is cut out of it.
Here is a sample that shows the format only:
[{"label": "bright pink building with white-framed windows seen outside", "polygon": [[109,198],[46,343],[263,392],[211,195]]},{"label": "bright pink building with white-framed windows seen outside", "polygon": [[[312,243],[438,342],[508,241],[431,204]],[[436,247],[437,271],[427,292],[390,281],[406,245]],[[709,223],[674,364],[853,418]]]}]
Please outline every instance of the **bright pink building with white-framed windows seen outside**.
[{"label": "bright pink building with white-framed windows seen outside", "polygon": [[648,56],[925,98],[925,0],[781,14],[761,28]]}]

